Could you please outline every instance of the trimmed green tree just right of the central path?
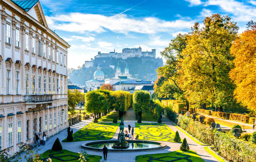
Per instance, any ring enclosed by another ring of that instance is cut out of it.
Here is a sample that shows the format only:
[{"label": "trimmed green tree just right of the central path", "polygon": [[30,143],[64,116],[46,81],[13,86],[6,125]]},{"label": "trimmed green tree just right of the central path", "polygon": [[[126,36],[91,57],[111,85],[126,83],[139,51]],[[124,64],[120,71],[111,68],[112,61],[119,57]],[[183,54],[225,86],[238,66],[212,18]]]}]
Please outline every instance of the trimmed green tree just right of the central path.
[{"label": "trimmed green tree just right of the central path", "polygon": [[150,105],[150,94],[143,90],[135,91],[132,95],[133,111],[137,113],[140,118],[142,117],[142,111],[148,110]]}]

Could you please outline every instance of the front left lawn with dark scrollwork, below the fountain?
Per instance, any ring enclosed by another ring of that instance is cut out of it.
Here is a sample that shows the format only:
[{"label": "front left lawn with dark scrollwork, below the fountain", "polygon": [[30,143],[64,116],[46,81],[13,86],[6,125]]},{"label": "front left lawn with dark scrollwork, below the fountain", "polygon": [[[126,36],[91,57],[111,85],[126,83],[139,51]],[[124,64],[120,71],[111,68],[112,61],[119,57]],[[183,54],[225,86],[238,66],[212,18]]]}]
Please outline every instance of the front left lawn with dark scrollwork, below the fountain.
[{"label": "front left lawn with dark scrollwork, below the fountain", "polygon": [[[72,155],[72,156],[70,156],[70,155]],[[79,162],[78,159],[80,158],[78,153],[71,152],[71,151],[64,150],[64,149],[61,151],[47,150],[43,154],[41,154],[41,156],[43,158],[51,158],[52,162],[62,162],[62,161]],[[64,157],[60,157],[60,156],[64,156]],[[54,157],[56,157],[56,158],[54,158]],[[59,160],[57,158],[60,158],[62,160]],[[100,161],[101,158],[102,157],[98,156],[98,155],[89,155],[88,161],[98,162],[98,161]]]}]

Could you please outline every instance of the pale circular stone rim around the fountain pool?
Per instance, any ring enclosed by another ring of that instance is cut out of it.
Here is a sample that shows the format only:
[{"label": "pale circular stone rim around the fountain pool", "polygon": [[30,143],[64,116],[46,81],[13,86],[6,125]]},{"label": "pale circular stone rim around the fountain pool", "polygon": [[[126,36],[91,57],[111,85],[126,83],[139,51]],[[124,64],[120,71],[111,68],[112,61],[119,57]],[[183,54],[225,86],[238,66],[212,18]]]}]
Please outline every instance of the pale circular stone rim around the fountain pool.
[{"label": "pale circular stone rim around the fountain pool", "polygon": [[[160,144],[158,147],[153,148],[141,148],[141,149],[108,149],[108,151],[151,151],[151,150],[159,150],[166,148],[166,144],[162,142],[156,142],[156,141],[146,141],[146,140],[126,140],[127,142],[133,142],[133,143],[146,143],[146,144]],[[90,144],[103,144],[103,143],[115,143],[116,140],[103,140],[103,141],[93,141],[93,142],[85,142],[82,144],[82,147],[90,150],[97,150],[102,151],[102,148],[96,148],[96,147],[89,147]]]}]

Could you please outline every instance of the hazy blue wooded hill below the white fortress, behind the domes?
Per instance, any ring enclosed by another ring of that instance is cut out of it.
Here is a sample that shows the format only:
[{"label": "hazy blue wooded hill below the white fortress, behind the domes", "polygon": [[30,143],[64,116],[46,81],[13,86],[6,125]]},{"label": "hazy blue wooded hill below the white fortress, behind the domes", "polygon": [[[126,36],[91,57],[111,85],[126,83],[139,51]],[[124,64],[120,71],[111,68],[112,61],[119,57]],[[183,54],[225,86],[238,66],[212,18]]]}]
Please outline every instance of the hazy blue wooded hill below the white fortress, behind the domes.
[{"label": "hazy blue wooded hill below the white fortress, behind the domes", "polygon": [[[122,73],[124,73],[127,63],[129,73],[132,75],[132,77],[152,81],[155,81],[157,78],[156,69],[163,66],[162,58],[130,57],[127,59],[122,59],[113,57],[95,57],[92,61],[92,67],[86,68],[83,65],[80,69],[69,69],[68,76],[72,84],[85,85],[87,80],[93,79],[93,74],[97,70],[98,64],[100,64],[101,70],[105,74],[105,79],[115,77],[118,62]],[[109,67],[110,65],[114,65],[115,69]]]}]

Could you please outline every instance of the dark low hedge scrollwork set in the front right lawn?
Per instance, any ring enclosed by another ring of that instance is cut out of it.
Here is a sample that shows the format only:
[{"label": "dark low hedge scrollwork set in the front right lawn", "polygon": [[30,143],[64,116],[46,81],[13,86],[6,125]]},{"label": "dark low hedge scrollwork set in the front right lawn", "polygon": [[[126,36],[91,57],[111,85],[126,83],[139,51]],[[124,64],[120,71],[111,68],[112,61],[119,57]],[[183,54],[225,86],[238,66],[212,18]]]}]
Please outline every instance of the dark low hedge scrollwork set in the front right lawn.
[{"label": "dark low hedge scrollwork set in the front right lawn", "polygon": [[[155,161],[165,161],[165,162],[173,162],[173,161],[179,161],[179,160],[188,160],[188,162],[192,162],[191,159],[189,159],[191,156],[190,155],[186,155],[186,154],[182,154],[180,152],[176,153],[177,155],[181,155],[184,157],[175,157],[175,156],[163,156],[163,157],[158,157],[158,158],[154,158],[152,156],[143,156],[143,158],[148,157],[149,159],[147,160],[148,162],[155,162]],[[174,158],[172,160],[164,160],[164,158]]]}]

